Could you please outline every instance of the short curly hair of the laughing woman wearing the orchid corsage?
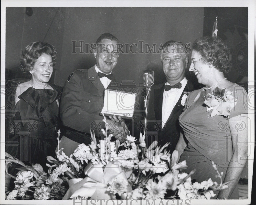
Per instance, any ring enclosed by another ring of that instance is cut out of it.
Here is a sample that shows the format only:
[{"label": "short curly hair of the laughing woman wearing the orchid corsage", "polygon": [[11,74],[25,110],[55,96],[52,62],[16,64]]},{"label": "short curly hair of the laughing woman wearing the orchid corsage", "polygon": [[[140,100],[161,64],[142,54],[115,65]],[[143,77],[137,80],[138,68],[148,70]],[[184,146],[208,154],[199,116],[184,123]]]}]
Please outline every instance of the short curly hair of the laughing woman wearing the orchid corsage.
[{"label": "short curly hair of the laughing woman wearing the orchid corsage", "polygon": [[231,70],[229,61],[230,50],[223,41],[216,36],[200,37],[192,45],[192,49],[202,56],[202,60],[212,65],[224,75]]}]

